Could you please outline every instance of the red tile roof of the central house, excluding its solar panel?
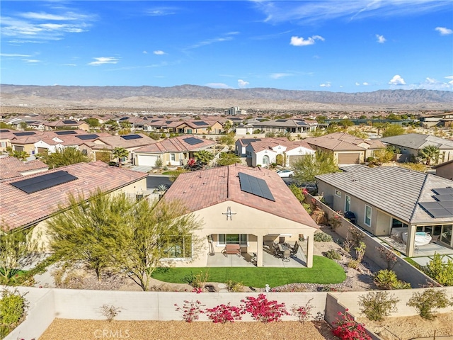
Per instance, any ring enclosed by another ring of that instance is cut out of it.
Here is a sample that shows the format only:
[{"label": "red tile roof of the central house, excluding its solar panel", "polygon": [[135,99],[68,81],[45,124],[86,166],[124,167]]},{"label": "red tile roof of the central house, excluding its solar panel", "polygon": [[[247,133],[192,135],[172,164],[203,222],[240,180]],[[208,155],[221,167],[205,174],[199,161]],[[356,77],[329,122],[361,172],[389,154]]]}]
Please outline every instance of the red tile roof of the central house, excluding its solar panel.
[{"label": "red tile roof of the central house, excluding its solar panel", "polygon": [[[268,184],[275,201],[242,191],[239,183],[239,172],[263,179]],[[280,176],[267,169],[249,168],[236,164],[180,174],[168,189],[164,198],[166,200],[182,200],[190,211],[231,200],[303,225],[318,228],[318,225],[311,219],[308,212],[302,207]]]}]

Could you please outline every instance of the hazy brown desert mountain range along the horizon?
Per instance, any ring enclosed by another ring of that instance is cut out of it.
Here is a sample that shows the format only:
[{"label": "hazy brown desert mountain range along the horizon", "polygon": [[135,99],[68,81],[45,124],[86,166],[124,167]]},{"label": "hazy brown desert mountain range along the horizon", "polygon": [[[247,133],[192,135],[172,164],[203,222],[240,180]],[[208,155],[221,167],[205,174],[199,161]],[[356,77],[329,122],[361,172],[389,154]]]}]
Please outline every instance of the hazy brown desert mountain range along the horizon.
[{"label": "hazy brown desert mountain range along the horizon", "polygon": [[294,91],[269,88],[212,89],[207,86],[25,86],[0,85],[2,105],[117,107],[212,107],[346,109],[451,109],[453,91]]}]

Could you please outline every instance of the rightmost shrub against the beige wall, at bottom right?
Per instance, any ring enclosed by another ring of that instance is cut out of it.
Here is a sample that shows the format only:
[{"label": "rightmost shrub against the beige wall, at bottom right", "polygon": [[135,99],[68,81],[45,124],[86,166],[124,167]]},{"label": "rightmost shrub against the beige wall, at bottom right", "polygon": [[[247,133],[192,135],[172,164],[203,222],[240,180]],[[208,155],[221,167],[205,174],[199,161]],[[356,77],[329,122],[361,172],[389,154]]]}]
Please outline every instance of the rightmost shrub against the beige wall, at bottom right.
[{"label": "rightmost shrub against the beige wall, at bottom right", "polygon": [[453,302],[447,299],[445,290],[430,288],[423,293],[413,293],[407,305],[414,307],[423,319],[432,320],[435,318],[434,310],[436,308],[445,308],[448,305],[453,305]]}]

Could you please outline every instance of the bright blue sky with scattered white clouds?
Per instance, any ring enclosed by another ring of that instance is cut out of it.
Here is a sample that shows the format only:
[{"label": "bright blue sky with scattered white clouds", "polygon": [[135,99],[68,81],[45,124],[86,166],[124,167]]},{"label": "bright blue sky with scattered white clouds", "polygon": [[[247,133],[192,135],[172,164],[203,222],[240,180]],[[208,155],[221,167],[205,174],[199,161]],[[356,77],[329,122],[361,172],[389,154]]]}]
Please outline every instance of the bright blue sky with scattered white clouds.
[{"label": "bright blue sky with scattered white clouds", "polygon": [[1,1],[2,84],[453,91],[453,2]]}]

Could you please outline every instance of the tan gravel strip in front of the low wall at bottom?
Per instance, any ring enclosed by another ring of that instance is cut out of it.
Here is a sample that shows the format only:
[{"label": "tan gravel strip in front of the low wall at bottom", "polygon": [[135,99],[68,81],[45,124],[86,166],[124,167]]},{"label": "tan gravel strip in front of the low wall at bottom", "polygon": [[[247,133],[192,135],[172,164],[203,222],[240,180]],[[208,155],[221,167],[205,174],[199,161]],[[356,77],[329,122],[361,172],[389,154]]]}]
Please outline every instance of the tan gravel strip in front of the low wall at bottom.
[{"label": "tan gravel strip in front of the low wall at bottom", "polygon": [[39,340],[334,340],[326,322],[117,321],[55,319]]}]

